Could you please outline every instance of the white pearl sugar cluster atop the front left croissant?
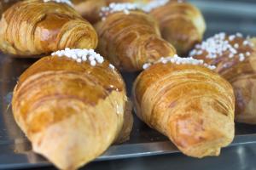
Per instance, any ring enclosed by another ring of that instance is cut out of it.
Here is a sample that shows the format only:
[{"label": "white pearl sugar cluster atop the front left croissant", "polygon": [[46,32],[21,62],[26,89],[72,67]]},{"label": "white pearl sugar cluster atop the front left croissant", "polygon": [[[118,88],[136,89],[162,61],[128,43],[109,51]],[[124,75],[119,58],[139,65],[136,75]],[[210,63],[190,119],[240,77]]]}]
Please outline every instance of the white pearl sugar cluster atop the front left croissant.
[{"label": "white pearl sugar cluster atop the front left croissant", "polygon": [[[69,59],[76,60],[78,63],[88,61],[91,66],[101,65],[104,62],[104,58],[97,54],[93,49],[70,49],[65,48],[51,54],[58,57],[67,57]],[[109,68],[114,69],[114,66],[109,64]]]}]

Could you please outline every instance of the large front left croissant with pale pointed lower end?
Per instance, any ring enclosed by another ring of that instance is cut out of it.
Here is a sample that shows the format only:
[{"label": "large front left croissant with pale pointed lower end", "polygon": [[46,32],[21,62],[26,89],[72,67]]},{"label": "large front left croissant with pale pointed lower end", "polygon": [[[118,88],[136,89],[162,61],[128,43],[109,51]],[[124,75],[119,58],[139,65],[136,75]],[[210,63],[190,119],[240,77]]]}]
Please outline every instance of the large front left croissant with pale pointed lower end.
[{"label": "large front left croissant with pale pointed lower end", "polygon": [[20,76],[12,109],[32,150],[60,169],[76,169],[129,138],[126,102],[125,83],[113,65],[91,50],[67,48]]}]

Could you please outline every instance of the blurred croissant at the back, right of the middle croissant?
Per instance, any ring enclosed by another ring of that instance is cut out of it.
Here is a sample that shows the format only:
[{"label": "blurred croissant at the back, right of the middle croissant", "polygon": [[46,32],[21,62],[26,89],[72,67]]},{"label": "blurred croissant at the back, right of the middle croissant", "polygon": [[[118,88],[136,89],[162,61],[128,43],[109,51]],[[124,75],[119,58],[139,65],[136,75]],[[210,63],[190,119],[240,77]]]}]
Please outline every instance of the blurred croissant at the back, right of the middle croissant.
[{"label": "blurred croissant at the back, right of the middle croissant", "polygon": [[201,11],[189,3],[171,1],[150,12],[160,23],[162,37],[177,49],[177,54],[187,54],[201,42],[206,30]]}]

